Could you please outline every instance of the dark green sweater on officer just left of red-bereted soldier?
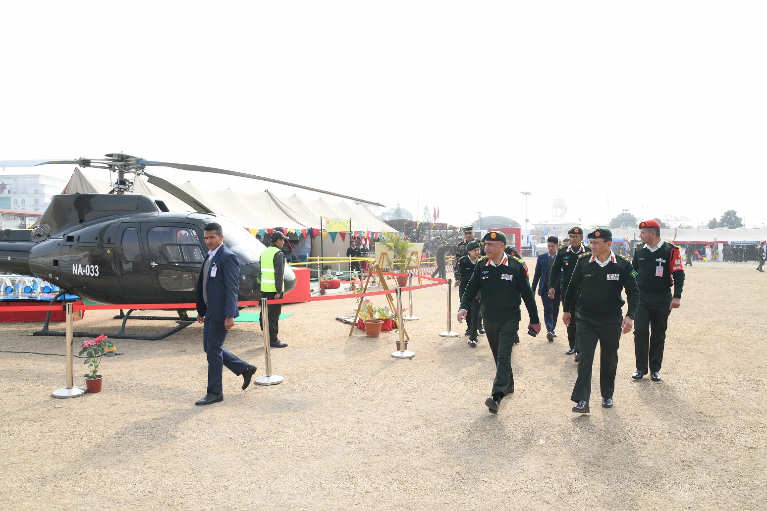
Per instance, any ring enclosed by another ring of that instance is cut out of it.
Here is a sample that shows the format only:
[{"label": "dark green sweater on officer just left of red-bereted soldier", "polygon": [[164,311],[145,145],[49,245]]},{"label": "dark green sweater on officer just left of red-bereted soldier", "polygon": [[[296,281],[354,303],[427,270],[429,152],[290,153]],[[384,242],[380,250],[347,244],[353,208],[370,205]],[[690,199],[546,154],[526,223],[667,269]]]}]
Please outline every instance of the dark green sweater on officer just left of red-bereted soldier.
[{"label": "dark green sweater on officer just left of red-bereted soldier", "polygon": [[[628,311],[626,316],[634,317],[639,305],[639,288],[637,287],[637,272],[631,263],[620,254],[611,254],[605,267],[600,267],[597,261],[591,261],[592,255],[581,254],[575,264],[563,310],[570,310],[573,300],[578,300],[578,319],[594,322],[620,321],[623,319],[624,300],[622,291],[626,290]],[[596,259],[594,257],[594,259]]]}]

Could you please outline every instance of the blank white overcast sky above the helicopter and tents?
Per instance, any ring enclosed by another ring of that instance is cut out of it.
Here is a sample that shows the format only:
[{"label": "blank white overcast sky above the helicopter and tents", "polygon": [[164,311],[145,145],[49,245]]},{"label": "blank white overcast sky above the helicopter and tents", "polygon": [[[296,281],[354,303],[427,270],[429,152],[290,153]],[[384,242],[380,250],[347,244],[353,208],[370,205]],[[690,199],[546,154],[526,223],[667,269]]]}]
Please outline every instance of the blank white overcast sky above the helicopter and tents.
[{"label": "blank white overcast sky above the helicopter and tents", "polygon": [[532,192],[531,222],[609,197],[763,225],[765,26],[767,2],[0,0],[0,159],[126,152],[452,224],[524,223]]}]

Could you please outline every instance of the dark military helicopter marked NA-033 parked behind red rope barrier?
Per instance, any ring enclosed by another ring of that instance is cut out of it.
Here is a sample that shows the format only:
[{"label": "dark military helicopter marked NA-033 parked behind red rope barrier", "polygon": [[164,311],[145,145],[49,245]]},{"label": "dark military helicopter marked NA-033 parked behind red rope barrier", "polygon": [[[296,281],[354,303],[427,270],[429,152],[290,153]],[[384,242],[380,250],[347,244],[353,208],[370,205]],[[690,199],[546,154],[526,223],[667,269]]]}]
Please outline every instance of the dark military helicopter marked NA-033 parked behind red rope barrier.
[{"label": "dark military helicopter marked NA-033 parked behind red rope barrier", "polygon": [[[0,271],[40,277],[87,300],[110,305],[195,303],[196,283],[206,247],[202,243],[204,226],[222,225],[224,244],[240,261],[239,301],[261,298],[259,258],[266,247],[244,228],[216,214],[181,188],[146,172],[147,166],[164,166],[194,172],[236,175],[249,179],[290,185],[354,201],[379,205],[365,199],[326,192],[318,188],[279,181],[242,172],[200,165],[154,162],[122,153],[104,159],[0,161],[3,167],[29,167],[47,164],[76,164],[109,169],[117,179],[109,194],[54,195],[40,220],[30,229],[5,229],[0,236]],[[158,188],[194,208],[192,212],[170,211],[164,201],[148,195],[133,195],[130,175],[146,175]],[[285,291],[295,287],[295,274],[285,269]],[[58,296],[54,298],[54,301]],[[162,339],[193,323],[185,309],[176,310],[179,326],[158,335],[112,334],[127,339]],[[175,319],[160,316],[133,316],[134,319]],[[48,330],[41,335],[61,335]],[[93,332],[77,332],[90,336]]]}]

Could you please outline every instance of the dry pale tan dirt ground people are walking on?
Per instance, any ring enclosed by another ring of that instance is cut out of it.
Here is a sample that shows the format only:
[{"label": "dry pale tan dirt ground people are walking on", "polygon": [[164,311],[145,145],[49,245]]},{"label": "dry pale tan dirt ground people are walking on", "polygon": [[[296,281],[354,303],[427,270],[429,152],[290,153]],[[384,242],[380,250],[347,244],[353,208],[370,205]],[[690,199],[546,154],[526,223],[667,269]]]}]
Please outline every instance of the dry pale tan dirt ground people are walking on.
[{"label": "dry pale tan dirt ground people are walking on", "polygon": [[[354,299],[285,306],[290,346],[272,350],[285,381],[242,391],[225,369],[225,400],[202,407],[202,326],[117,339],[102,392],[54,399],[64,357],[14,352],[63,354],[64,339],[2,323],[0,508],[763,509],[767,275],[754,268],[686,267],[663,381],[630,378],[633,334],[623,336],[615,406],[599,405],[597,350],[589,415],[570,410],[576,365],[561,318],[555,342],[522,336],[516,391],[489,414],[484,336],[470,349],[455,319],[460,335],[439,336],[446,287],[413,293],[413,359],[390,356],[395,332],[347,337],[334,318],[353,314]],[[75,328],[116,332],[112,315],[89,311]],[[264,375],[257,323],[236,323],[225,346]],[[74,374],[84,385],[80,359]]]}]

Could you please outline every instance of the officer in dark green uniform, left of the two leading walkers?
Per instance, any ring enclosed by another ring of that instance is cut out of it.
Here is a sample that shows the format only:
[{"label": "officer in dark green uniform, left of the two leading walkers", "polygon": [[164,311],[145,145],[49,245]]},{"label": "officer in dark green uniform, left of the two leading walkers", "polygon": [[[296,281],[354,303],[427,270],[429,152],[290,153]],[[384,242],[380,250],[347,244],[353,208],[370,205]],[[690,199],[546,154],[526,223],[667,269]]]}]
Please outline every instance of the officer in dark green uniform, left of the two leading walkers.
[{"label": "officer in dark green uniform, left of the two leading walkers", "polygon": [[519,257],[509,256],[503,251],[506,236],[502,232],[490,231],[482,238],[487,257],[475,265],[472,277],[461,298],[458,323],[463,323],[471,300],[482,290],[479,305],[485,319],[487,342],[495,359],[495,380],[485,405],[492,414],[498,413],[503,397],[514,391],[512,372],[512,347],[519,330],[521,319],[519,306],[525,301],[530,323],[528,329],[536,334],[541,332],[538,308],[530,289],[528,268]]}]

